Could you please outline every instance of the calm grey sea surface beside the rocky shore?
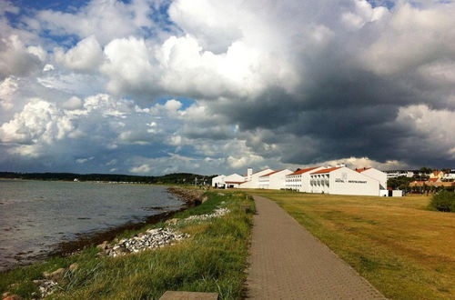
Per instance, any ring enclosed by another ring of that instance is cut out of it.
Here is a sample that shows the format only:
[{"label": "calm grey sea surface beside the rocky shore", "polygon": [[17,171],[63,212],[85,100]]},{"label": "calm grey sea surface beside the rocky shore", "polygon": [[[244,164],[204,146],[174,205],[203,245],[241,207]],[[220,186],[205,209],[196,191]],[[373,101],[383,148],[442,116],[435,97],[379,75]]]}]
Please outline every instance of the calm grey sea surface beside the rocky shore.
[{"label": "calm grey sea surface beside the rocky shore", "polygon": [[0,271],[28,264],[78,235],[182,205],[156,185],[0,180]]}]

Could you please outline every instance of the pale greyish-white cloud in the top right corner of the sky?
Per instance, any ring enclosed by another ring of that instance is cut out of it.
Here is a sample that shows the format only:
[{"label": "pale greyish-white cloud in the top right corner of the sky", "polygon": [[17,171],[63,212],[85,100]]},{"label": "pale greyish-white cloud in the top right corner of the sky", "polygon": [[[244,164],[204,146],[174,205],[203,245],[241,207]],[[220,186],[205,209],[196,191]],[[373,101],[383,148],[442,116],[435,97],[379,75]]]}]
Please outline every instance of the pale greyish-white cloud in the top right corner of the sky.
[{"label": "pale greyish-white cloud in the top right corner of the sky", "polygon": [[[455,5],[421,9],[404,2],[379,37],[359,53],[364,65],[379,75],[393,75],[455,53]],[[443,38],[441,38],[443,36]]]}]

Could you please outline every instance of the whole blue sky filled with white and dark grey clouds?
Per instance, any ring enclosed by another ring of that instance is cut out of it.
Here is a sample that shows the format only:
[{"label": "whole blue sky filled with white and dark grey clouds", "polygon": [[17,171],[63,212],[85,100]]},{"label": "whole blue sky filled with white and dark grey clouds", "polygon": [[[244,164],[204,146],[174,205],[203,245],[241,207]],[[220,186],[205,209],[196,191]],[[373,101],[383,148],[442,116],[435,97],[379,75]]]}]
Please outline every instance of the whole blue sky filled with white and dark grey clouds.
[{"label": "whole blue sky filled with white and dark grey clouds", "polygon": [[0,171],[455,167],[455,3],[0,0]]}]

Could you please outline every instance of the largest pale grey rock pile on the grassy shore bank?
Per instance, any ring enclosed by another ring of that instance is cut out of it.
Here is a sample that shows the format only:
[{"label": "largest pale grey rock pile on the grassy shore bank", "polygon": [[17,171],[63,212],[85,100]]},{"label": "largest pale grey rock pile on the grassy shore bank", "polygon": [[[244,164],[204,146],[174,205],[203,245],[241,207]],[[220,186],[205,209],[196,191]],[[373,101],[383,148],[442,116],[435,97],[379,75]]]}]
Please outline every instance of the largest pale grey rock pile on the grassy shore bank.
[{"label": "largest pale grey rock pile on the grassy shore bank", "polygon": [[132,238],[122,239],[116,245],[107,247],[106,254],[116,257],[128,253],[137,253],[146,249],[172,245],[174,242],[187,237],[189,237],[189,235],[178,233],[171,228],[148,229],[145,233],[141,233]]}]

